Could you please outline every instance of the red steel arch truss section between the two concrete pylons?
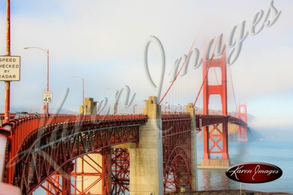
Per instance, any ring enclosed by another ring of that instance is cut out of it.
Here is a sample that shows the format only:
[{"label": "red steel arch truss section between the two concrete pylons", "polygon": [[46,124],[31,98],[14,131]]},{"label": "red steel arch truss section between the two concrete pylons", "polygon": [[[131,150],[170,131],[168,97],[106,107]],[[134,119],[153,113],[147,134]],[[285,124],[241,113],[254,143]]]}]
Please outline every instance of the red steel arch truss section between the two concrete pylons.
[{"label": "red steel arch truss section between the two concrete pylons", "polygon": [[189,114],[162,115],[164,193],[191,187],[191,123]]}]

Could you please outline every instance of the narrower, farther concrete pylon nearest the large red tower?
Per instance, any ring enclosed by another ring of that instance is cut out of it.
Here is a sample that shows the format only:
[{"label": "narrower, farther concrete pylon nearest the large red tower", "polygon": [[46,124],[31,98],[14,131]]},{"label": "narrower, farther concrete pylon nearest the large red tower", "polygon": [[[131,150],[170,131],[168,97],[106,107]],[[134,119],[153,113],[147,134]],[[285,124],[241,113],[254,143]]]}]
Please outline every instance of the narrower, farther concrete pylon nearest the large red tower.
[{"label": "narrower, farther concrete pylon nearest the large red tower", "polygon": [[197,153],[196,153],[196,127],[195,127],[195,110],[192,103],[188,103],[186,112],[191,118],[191,190],[197,191]]}]

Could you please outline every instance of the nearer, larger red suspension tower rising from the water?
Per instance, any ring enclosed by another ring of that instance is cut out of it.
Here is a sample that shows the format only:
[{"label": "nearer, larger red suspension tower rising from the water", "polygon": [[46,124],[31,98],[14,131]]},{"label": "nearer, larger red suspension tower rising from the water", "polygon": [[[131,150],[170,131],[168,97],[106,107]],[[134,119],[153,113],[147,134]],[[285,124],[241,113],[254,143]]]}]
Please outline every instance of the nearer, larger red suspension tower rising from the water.
[{"label": "nearer, larger red suspension tower rising from the water", "polygon": [[[221,69],[222,81],[218,85],[209,85],[208,71],[210,67],[219,67]],[[218,94],[221,97],[222,114],[227,115],[227,67],[225,50],[222,57],[207,61],[203,59],[203,114],[209,113],[209,97],[212,94]],[[219,129],[220,124],[213,125],[212,128],[203,127],[204,134],[204,155],[202,166],[228,167],[230,159],[228,153],[228,121],[224,122],[222,130]],[[222,145],[222,146],[221,146]],[[210,154],[221,154],[222,158],[211,159]]]}]

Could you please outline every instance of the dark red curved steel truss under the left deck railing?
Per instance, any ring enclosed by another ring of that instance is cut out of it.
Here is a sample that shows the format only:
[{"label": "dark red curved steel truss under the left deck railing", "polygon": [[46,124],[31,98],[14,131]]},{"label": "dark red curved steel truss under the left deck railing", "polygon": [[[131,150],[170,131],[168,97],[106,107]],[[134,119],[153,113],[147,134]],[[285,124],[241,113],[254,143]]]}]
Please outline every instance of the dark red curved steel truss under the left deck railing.
[{"label": "dark red curved steel truss under the left deck railing", "polygon": [[[20,155],[15,159],[20,161],[15,167],[14,183],[22,188],[23,194],[29,194],[79,156],[116,144],[138,141],[139,125],[145,122],[146,119],[107,123],[78,121],[62,127],[56,124],[34,130],[22,142]],[[38,137],[40,131],[43,131],[42,136]]]}]

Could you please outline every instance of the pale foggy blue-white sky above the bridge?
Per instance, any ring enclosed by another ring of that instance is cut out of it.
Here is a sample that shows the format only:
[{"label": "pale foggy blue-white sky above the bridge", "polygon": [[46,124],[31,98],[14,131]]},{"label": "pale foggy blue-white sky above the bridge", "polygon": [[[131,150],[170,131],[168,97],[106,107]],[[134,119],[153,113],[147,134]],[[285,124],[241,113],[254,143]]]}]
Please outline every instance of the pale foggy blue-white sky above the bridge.
[{"label": "pale foggy blue-white sky above the bridge", "polygon": [[[235,110],[231,73],[235,99],[246,100],[248,113],[256,117],[251,121],[252,127],[290,128],[293,125],[291,0],[11,0],[11,55],[21,56],[21,81],[11,82],[11,107],[42,112],[46,53],[23,49],[41,47],[49,49],[49,86],[53,91],[50,112],[58,107],[66,88],[69,93],[63,108],[78,111],[82,104],[82,80],[71,76],[84,78],[84,95],[95,101],[107,98],[111,103],[114,89],[128,86],[129,94],[135,93],[133,102],[123,108],[122,98],[118,109],[121,113],[131,113],[137,104],[136,112],[142,112],[143,100],[158,94],[146,77],[143,61],[150,36],[160,40],[165,51],[162,96],[171,80],[168,73],[172,72],[174,62],[188,54],[191,46],[202,56],[212,38],[222,34],[223,42],[228,43],[234,26],[237,27],[235,40],[244,21],[244,32],[247,32],[256,13],[263,10],[261,20],[265,18],[270,3],[281,13],[269,27],[260,29],[261,22],[256,25],[255,31],[259,32],[247,35],[238,47],[235,62],[227,68],[228,110]],[[5,6],[5,0],[0,0],[1,55],[5,54]],[[271,17],[275,10],[270,10]],[[272,20],[270,17],[268,20]],[[235,54],[233,48],[236,46],[227,48],[227,56]],[[149,72],[157,86],[160,61],[158,46],[150,43]],[[202,82],[201,71],[202,66],[190,68],[189,76],[180,77],[185,78],[185,83],[175,82],[177,89],[170,91],[175,95],[168,94],[169,99],[163,103],[171,102],[172,96],[177,98],[170,103],[173,105],[193,102]],[[199,98],[199,107],[201,101]],[[1,82],[0,110],[3,108],[4,82]]]}]

